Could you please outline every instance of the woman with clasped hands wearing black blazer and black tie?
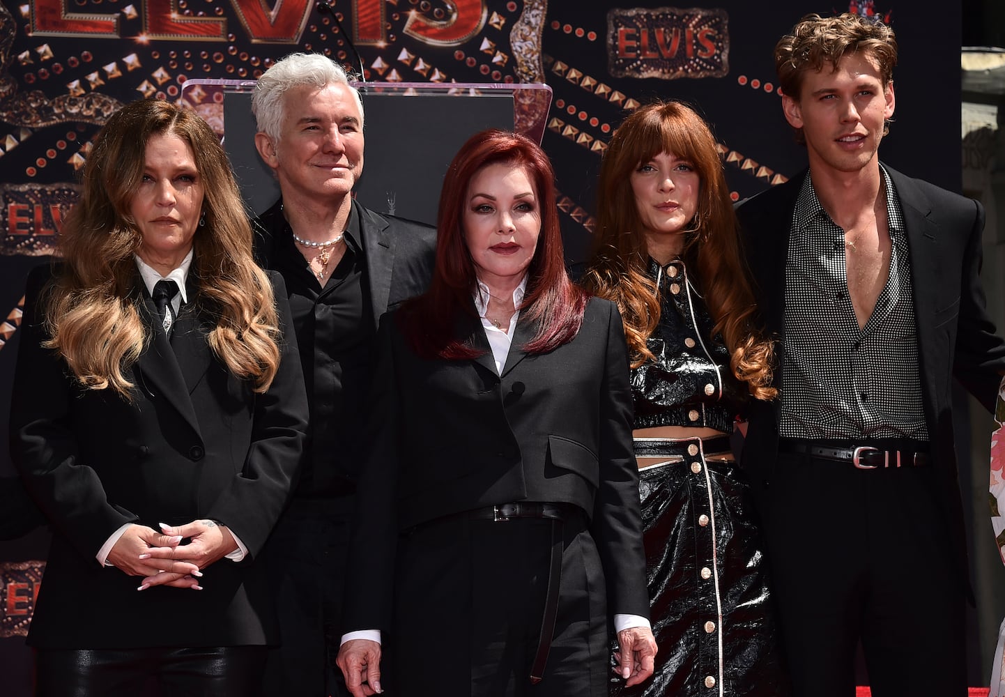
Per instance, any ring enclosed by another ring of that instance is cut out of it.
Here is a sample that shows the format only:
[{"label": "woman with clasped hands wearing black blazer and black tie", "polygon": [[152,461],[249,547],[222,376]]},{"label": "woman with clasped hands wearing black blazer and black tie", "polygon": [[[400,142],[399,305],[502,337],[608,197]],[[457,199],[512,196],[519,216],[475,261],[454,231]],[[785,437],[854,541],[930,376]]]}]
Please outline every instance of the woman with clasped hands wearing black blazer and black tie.
[{"label": "woman with clasped hands wearing black blazer and black tie", "polygon": [[257,694],[275,633],[254,559],[307,404],[281,281],[252,259],[209,126],[156,100],[114,114],[60,251],[28,279],[11,404],[53,528],[35,694]]}]

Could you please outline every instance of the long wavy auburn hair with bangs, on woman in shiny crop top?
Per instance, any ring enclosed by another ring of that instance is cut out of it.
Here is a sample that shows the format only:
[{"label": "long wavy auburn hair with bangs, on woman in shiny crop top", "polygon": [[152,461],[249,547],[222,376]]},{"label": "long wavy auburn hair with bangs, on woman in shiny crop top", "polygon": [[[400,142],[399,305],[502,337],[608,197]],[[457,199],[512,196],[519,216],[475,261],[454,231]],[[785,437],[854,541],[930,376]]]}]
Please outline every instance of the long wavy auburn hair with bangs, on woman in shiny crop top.
[{"label": "long wavy auburn hair with bangs, on woman in shiny crop top", "polygon": [[647,274],[649,254],[631,187],[631,175],[656,155],[667,152],[687,160],[701,185],[697,210],[685,230],[685,262],[700,279],[701,291],[722,334],[738,379],[755,397],[771,399],[774,350],[754,325],[754,293],[741,259],[739,225],[723,161],[709,126],[679,102],[639,108],[614,132],[600,165],[597,189],[597,235],[583,285],[615,302],[637,367],[653,360],[646,340],[659,324],[655,282]]}]

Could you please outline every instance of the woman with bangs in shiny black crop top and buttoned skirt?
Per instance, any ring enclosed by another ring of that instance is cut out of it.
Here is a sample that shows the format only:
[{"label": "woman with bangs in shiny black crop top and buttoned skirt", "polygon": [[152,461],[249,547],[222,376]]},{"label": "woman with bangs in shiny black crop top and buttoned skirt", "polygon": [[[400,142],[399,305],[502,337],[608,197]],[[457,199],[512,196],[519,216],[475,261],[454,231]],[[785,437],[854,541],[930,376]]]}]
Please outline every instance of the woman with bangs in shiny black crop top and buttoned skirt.
[{"label": "woman with bangs in shiny black crop top and buttoned skirt", "polygon": [[621,311],[631,360],[653,632],[652,680],[615,693],[777,695],[764,548],[730,448],[748,399],[771,399],[716,140],[690,108],[648,105],[600,168],[586,289]]}]

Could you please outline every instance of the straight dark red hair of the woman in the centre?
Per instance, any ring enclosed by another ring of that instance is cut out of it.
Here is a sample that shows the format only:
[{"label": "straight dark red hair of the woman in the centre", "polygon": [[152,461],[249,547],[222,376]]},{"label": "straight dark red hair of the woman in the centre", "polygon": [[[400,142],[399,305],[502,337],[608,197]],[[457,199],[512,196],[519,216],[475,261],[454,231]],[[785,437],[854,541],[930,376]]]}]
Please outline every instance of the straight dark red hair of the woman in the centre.
[{"label": "straight dark red hair of the woman in the centre", "polygon": [[399,313],[412,348],[420,356],[461,359],[480,353],[454,332],[457,318],[475,316],[471,298],[477,280],[464,241],[463,216],[468,182],[483,167],[498,163],[527,172],[541,212],[538,247],[527,270],[527,292],[520,306],[521,319],[528,317],[539,329],[523,349],[528,353],[551,351],[571,341],[583,323],[587,297],[566,273],[551,162],[534,141],[490,129],[468,139],[447,168],[436,218],[432,282],[425,295],[407,303]]}]

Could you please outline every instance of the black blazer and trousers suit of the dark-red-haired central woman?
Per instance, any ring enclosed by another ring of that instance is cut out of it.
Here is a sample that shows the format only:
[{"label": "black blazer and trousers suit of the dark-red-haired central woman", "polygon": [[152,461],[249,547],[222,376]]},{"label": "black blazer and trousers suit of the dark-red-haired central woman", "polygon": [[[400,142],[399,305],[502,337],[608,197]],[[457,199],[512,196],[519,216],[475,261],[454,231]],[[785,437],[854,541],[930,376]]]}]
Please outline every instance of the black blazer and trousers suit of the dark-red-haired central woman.
[{"label": "black blazer and trousers suit of the dark-red-haired central woman", "polygon": [[[394,315],[381,360],[374,452],[359,489],[346,630],[381,629],[400,694],[604,697],[613,614],[648,616],[621,319],[592,300],[579,334],[547,354],[521,347],[501,374],[477,317],[470,360],[415,355]],[[471,520],[518,501],[572,513],[544,679],[530,682],[549,577],[551,520]]]}]

